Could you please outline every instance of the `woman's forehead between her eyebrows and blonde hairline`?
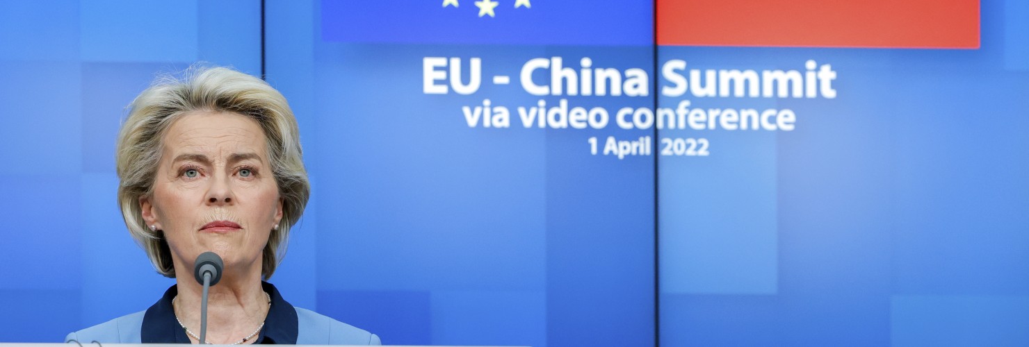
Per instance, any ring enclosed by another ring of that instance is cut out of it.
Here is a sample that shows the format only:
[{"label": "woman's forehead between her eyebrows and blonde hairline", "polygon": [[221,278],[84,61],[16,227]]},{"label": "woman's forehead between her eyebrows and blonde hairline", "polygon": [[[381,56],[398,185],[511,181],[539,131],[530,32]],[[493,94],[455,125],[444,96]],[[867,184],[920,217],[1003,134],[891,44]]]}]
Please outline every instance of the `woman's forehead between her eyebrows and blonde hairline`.
[{"label": "woman's forehead between her eyebrows and blonde hairline", "polygon": [[267,140],[256,120],[229,112],[192,112],[182,115],[168,128],[165,154],[203,154],[212,160],[241,153],[265,156]]}]

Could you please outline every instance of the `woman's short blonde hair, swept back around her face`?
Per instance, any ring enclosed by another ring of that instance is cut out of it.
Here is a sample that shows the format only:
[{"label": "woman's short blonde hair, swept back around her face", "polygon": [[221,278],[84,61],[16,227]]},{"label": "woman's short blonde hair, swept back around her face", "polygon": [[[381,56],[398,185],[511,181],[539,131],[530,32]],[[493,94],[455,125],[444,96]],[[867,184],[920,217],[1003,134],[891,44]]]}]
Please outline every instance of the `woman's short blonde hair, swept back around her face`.
[{"label": "woman's short blonde hair, swept back around her face", "polygon": [[285,256],[289,228],[300,219],[311,195],[299,130],[286,99],[257,77],[226,68],[194,66],[182,78],[157,78],[129,109],[115,158],[120,180],[118,203],[129,232],[157,272],[167,277],[175,277],[168,241],[163,231],[147,227],[140,206],[141,197],[152,196],[165,132],[180,116],[193,111],[232,112],[260,124],[282,199],[282,220],[272,230],[261,255],[261,276],[272,277]]}]

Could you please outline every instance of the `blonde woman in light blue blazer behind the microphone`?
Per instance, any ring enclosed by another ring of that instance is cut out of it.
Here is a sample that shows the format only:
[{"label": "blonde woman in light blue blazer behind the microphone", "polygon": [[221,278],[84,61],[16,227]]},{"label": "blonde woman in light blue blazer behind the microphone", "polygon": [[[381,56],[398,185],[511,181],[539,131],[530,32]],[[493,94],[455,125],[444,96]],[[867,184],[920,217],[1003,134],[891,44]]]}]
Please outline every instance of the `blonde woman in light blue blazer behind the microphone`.
[{"label": "blonde woman in light blue blazer behind the microphone", "polygon": [[133,237],[175,278],[149,309],[71,333],[87,343],[199,343],[197,257],[224,261],[207,343],[378,345],[379,337],[301,308],[271,283],[309,185],[296,120],[264,81],[225,68],[158,80],[133,101],[117,143],[118,202]]}]

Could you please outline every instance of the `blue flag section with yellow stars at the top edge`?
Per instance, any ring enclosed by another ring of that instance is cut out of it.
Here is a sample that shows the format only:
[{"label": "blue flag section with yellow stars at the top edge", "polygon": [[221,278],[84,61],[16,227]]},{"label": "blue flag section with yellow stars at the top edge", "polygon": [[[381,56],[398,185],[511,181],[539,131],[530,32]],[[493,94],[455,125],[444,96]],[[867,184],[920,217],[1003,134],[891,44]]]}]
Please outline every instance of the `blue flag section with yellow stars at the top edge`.
[{"label": "blue flag section with yellow stars at the top edge", "polygon": [[323,0],[322,39],[527,45],[653,44],[641,0]]}]

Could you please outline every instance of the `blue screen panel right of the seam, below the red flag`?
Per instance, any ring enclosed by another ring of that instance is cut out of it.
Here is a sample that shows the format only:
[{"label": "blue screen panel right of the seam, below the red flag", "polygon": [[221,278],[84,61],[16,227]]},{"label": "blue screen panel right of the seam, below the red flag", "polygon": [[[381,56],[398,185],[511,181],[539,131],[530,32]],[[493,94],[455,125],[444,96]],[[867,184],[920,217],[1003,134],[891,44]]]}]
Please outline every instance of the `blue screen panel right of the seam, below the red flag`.
[{"label": "blue screen panel right of the seam, below the red flag", "polygon": [[[659,47],[659,64],[688,69],[804,71],[814,60],[838,73],[836,98],[687,93],[698,107],[774,102],[758,109],[794,111],[795,130],[659,130],[712,144],[710,157],[659,161],[661,344],[1025,344],[1009,323],[1024,320],[1029,294],[1020,6],[983,4],[980,49]],[[756,202],[769,191],[771,208]],[[773,214],[774,260],[734,268],[707,256],[759,257],[768,241],[742,233],[762,229],[740,225],[762,211]],[[770,264],[775,291],[687,291],[708,274],[742,286]]]}]

